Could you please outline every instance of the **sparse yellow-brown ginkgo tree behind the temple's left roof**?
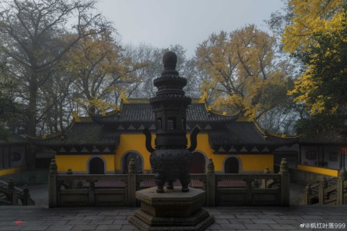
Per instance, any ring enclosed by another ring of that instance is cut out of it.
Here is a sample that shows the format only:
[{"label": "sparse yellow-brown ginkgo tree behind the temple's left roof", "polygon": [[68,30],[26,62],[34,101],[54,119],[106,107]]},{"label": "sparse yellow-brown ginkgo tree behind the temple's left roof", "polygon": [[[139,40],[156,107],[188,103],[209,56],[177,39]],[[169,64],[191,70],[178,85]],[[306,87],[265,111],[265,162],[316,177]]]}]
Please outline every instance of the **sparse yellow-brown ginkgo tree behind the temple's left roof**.
[{"label": "sparse yellow-brown ginkgo tree behind the temple's left roof", "polygon": [[87,113],[104,113],[115,108],[117,102],[112,101],[110,94],[129,89],[129,85],[138,81],[134,70],[142,67],[124,56],[110,31],[79,40],[62,65],[67,74],[74,76],[75,101]]}]

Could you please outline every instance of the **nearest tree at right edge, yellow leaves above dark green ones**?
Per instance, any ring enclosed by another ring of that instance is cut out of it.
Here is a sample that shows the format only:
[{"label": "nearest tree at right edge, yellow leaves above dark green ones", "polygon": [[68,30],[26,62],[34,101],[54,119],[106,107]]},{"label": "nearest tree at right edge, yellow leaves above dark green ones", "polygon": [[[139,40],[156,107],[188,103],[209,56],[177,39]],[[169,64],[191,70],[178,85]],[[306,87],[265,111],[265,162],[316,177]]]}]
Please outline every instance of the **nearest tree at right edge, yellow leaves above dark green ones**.
[{"label": "nearest tree at right edge, yellow leaves above dark green ones", "polygon": [[291,0],[288,4],[291,24],[285,27],[282,43],[304,65],[289,95],[309,112],[298,127],[304,133],[339,127],[347,117],[346,1]]}]

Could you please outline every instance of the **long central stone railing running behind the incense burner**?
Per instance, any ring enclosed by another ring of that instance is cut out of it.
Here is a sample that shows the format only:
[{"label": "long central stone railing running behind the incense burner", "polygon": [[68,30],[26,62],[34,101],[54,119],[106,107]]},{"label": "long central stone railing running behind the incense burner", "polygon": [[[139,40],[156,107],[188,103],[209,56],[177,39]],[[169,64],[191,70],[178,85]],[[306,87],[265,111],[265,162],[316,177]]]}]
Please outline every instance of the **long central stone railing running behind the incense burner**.
[{"label": "long central stone railing running behind the incense burner", "polygon": [[[189,187],[206,191],[205,206],[289,206],[289,171],[282,160],[279,173],[191,174]],[[130,160],[128,174],[59,174],[55,160],[49,169],[49,207],[135,207],[135,191],[154,187],[153,174],[137,174]],[[237,183],[235,185],[235,183]],[[174,184],[175,185],[175,184]]]}]

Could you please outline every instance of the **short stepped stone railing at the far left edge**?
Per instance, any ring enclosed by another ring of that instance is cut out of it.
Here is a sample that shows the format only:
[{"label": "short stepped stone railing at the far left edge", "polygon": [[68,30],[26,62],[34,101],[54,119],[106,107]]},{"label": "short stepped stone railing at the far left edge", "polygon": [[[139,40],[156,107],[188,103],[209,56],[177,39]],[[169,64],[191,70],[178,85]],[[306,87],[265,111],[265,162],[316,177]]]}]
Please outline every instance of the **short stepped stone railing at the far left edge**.
[{"label": "short stepped stone railing at the far left edge", "polygon": [[26,185],[24,189],[15,187],[15,181],[10,178],[8,182],[0,180],[0,205],[35,205],[35,202]]}]

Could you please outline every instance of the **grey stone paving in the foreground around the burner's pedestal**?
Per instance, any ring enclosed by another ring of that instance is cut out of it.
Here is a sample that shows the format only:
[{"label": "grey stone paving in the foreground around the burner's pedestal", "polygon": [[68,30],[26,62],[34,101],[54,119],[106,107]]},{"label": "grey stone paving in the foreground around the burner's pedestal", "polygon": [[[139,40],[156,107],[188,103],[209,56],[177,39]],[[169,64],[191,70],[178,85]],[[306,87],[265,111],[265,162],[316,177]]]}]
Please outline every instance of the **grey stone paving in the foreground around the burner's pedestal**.
[{"label": "grey stone paving in the foreground around the burner's pedestal", "polygon": [[[137,208],[54,208],[0,206],[0,231],[137,230],[128,218]],[[313,223],[347,226],[346,205],[291,205],[290,207],[208,207],[217,230],[347,230],[305,228]],[[22,221],[16,225],[16,221]],[[301,228],[301,225],[304,225]],[[138,230],[137,230],[138,231]]]}]

